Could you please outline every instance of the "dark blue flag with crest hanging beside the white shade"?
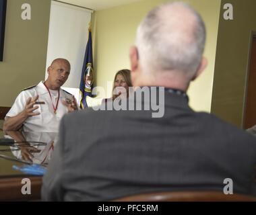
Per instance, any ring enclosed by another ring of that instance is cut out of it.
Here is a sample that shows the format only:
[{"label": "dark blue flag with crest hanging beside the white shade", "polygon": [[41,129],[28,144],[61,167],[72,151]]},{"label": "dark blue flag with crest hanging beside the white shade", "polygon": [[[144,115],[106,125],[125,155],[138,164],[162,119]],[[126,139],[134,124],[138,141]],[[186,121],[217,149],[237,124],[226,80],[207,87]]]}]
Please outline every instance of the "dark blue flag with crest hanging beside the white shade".
[{"label": "dark blue flag with crest hanging beside the white shade", "polygon": [[84,65],[82,69],[80,81],[80,107],[82,109],[88,107],[86,96],[92,97],[92,88],[94,84],[94,69],[92,62],[92,32],[89,30],[89,38],[86,46],[86,54],[84,56]]}]

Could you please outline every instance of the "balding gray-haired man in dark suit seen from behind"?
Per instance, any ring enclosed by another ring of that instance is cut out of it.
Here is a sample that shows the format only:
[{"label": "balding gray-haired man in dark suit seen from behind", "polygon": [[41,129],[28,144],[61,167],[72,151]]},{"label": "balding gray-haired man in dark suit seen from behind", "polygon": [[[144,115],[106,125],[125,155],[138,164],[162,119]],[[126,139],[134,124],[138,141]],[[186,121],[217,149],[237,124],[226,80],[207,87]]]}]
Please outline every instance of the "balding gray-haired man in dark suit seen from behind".
[{"label": "balding gray-haired man in dark suit seen from behind", "polygon": [[188,105],[185,91],[207,64],[201,17],[183,3],[157,7],[141,22],[136,44],[130,51],[133,85],[165,87],[164,116],[152,118],[151,110],[65,116],[43,200],[223,191],[226,178],[234,193],[253,194],[255,138]]}]

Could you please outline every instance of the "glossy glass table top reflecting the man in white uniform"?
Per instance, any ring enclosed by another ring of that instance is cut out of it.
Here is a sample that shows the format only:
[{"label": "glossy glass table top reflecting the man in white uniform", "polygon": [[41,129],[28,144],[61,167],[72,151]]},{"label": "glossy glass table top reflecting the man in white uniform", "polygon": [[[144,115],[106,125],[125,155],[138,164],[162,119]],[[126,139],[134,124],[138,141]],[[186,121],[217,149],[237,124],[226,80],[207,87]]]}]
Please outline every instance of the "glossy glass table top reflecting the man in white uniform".
[{"label": "glossy glass table top reflecting the man in white uniform", "polygon": [[24,165],[47,167],[57,142],[55,132],[6,132],[0,130],[0,177],[26,175],[15,170]]}]

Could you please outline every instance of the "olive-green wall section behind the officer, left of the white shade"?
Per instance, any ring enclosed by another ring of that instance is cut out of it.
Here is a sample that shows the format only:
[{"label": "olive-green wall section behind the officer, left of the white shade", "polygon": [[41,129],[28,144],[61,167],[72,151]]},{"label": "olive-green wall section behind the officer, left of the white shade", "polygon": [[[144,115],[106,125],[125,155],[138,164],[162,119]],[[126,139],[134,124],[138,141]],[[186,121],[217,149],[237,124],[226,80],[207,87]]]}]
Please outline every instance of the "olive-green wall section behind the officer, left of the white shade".
[{"label": "olive-green wall section behind the officer, left of the white shade", "polygon": [[[21,18],[22,4],[32,19]],[[51,0],[8,0],[4,59],[0,62],[0,106],[11,106],[22,89],[44,79]]]}]

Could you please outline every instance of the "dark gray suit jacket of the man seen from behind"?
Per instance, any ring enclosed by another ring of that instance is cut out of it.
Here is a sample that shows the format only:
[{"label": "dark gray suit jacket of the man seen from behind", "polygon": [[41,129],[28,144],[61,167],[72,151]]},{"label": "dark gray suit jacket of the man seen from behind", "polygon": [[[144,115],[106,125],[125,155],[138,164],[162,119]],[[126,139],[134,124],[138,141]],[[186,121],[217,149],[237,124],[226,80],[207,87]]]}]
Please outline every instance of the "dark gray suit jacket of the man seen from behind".
[{"label": "dark gray suit jacket of the man seen from behind", "polygon": [[166,93],[163,118],[151,111],[68,114],[44,175],[42,200],[102,201],[152,191],[253,194],[256,138]]}]

